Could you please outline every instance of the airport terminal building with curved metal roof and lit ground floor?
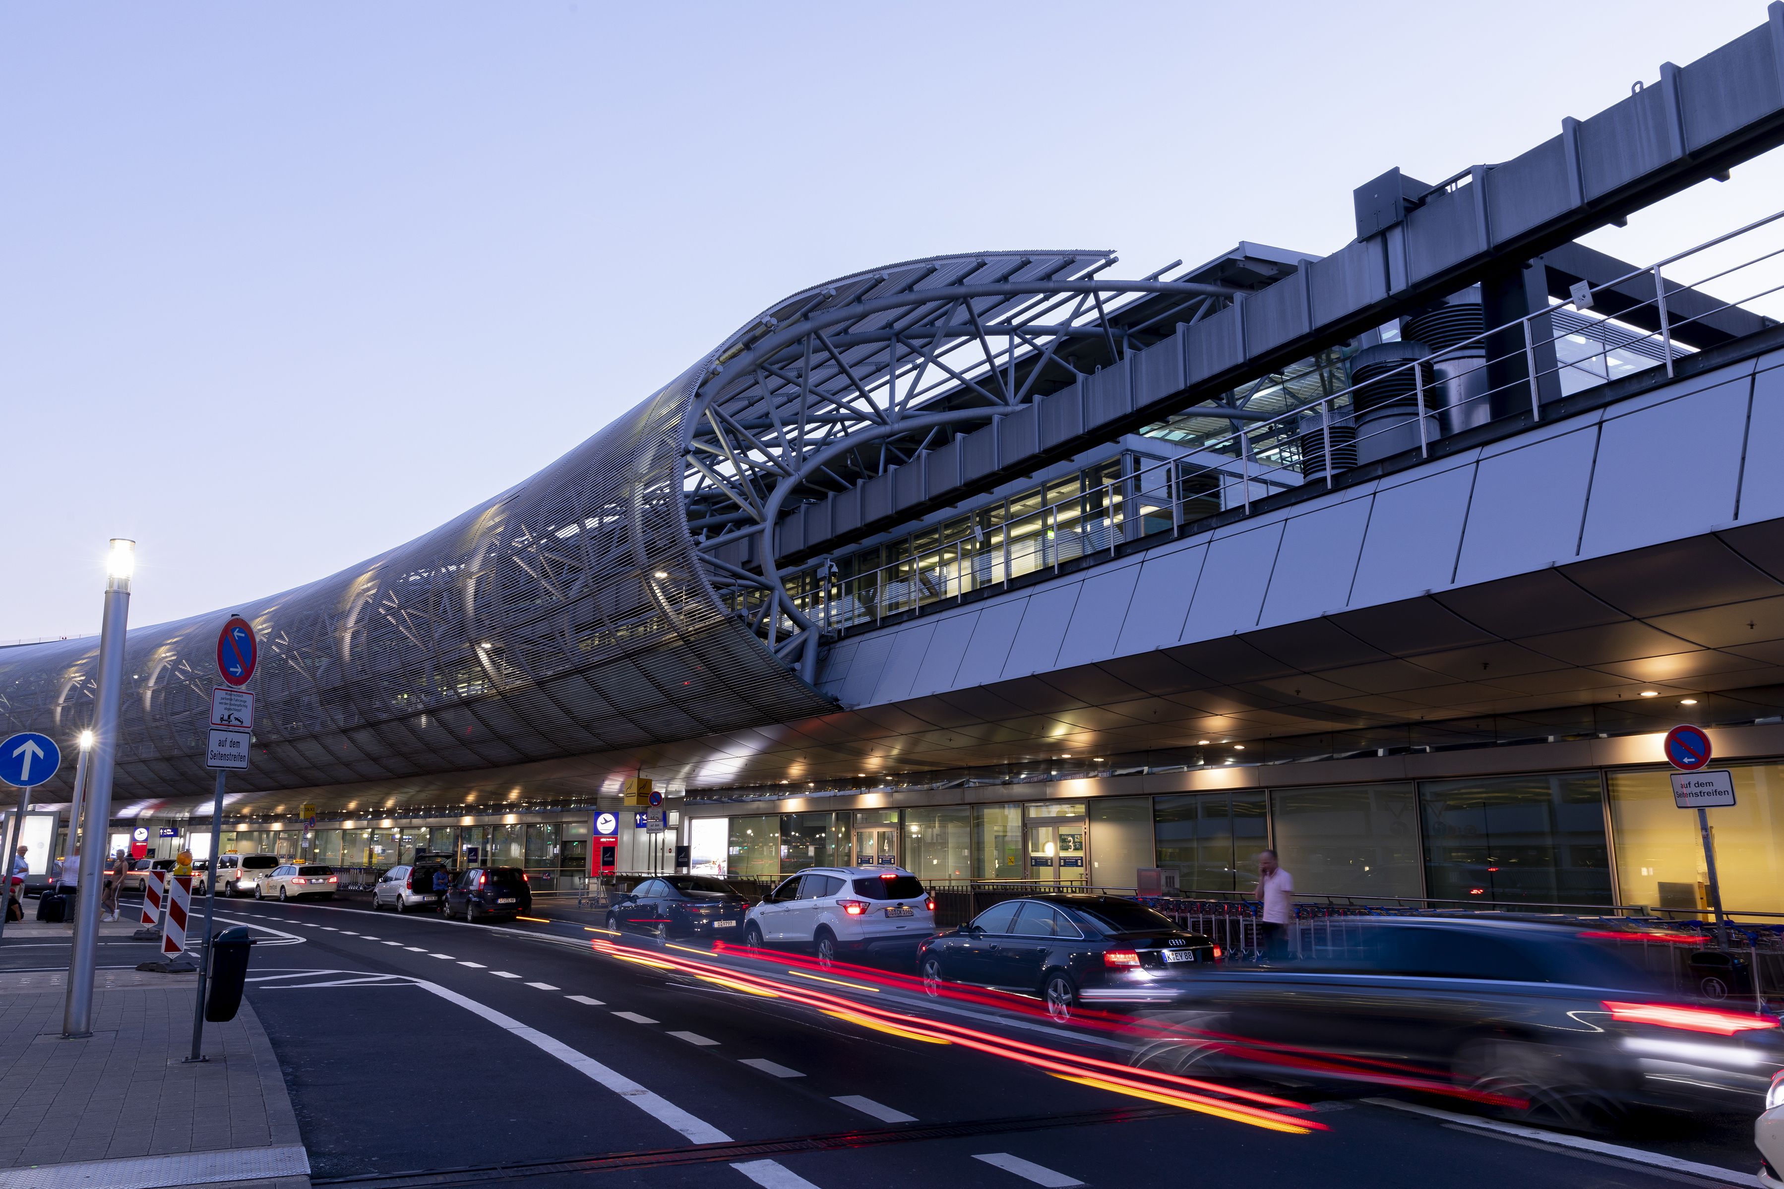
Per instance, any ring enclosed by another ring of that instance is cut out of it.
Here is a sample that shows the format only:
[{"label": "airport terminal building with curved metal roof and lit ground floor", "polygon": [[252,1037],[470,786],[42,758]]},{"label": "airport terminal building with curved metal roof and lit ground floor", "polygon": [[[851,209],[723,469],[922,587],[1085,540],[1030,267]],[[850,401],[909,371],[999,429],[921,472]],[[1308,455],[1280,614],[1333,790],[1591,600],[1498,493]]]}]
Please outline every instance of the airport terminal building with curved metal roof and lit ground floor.
[{"label": "airport terminal building with curved metal roof and lit ground floor", "polygon": [[[1773,4],[1511,160],[1367,182],[1329,255],[796,292],[439,529],[134,629],[112,841],[209,831],[241,613],[227,850],[574,882],[646,775],[669,829],[624,813],[623,870],[1247,891],[1272,845],[1311,893],[1688,909],[1657,740],[1693,722],[1723,898],[1784,913],[1784,212],[1577,242],[1780,143]],[[96,668],[0,649],[0,722],[71,738]]]}]

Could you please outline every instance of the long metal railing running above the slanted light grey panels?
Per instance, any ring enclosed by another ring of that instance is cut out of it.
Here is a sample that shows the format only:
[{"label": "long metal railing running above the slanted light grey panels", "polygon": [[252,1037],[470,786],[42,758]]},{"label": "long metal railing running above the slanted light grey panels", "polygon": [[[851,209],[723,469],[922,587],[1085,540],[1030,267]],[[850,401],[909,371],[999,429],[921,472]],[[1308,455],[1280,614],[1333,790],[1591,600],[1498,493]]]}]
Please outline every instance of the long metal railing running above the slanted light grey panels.
[{"label": "long metal railing running above the slanted light grey panels", "polygon": [[[1001,524],[987,526],[974,515],[969,535],[922,556],[847,578],[837,574],[833,562],[815,562],[789,572],[787,586],[794,603],[822,629],[840,631],[974,590],[1008,586],[1040,570],[1058,572],[1079,558],[1115,556],[1124,542],[1176,537],[1231,508],[1249,513],[1254,501],[1279,490],[1308,483],[1329,490],[1342,471],[1356,465],[1354,458],[1375,460],[1415,447],[1422,458],[1429,456],[1438,439],[1490,421],[1495,403],[1509,415],[1522,412],[1527,401],[1532,422],[1540,422],[1545,389],[1554,399],[1647,367],[1664,367],[1672,376],[1675,362],[1693,353],[1679,342],[1682,328],[1725,310],[1748,312],[1743,308],[1748,303],[1784,291],[1784,276],[1777,283],[1766,276],[1738,299],[1711,298],[1711,308],[1689,317],[1677,317],[1668,296],[1689,289],[1693,301],[1702,301],[1707,298],[1702,285],[1736,278],[1745,283],[1754,269],[1784,257],[1784,246],[1766,246],[1736,264],[1711,264],[1706,276],[1688,283],[1663,276],[1661,269],[1700,257],[1709,260],[1707,253],[1779,219],[1784,210],[1615,280],[1581,285],[1570,303],[1550,305],[1309,405],[1211,437],[1188,456],[1142,467]],[[1616,291],[1623,299],[1623,287],[1645,276],[1652,276],[1652,298],[1615,316],[1591,312],[1598,294]],[[1632,317],[1654,321],[1657,330],[1634,326]],[[1495,344],[1506,342],[1509,349],[1495,355]],[[1597,349],[1590,349],[1593,344]],[[1556,362],[1540,365],[1540,357],[1550,351]],[[1495,373],[1513,378],[1491,383]],[[1454,396],[1461,399],[1450,399]],[[1190,412],[1218,421],[1224,410],[1199,406]],[[1242,408],[1233,412],[1245,414]]]}]

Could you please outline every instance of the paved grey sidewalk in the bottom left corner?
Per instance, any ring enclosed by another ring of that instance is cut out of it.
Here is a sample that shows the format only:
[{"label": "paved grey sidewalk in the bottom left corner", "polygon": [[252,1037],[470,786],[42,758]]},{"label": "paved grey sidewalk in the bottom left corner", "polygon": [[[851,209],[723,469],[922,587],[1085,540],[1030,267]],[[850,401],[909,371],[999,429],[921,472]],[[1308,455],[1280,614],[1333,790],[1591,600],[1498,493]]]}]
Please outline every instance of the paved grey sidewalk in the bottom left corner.
[{"label": "paved grey sidewalk in the bottom left corner", "polygon": [[78,1041],[61,1036],[66,979],[0,973],[0,1189],[309,1189],[285,1082],[246,1002],[205,1025],[211,1061],[182,1064],[193,975],[98,972],[93,1036]]}]

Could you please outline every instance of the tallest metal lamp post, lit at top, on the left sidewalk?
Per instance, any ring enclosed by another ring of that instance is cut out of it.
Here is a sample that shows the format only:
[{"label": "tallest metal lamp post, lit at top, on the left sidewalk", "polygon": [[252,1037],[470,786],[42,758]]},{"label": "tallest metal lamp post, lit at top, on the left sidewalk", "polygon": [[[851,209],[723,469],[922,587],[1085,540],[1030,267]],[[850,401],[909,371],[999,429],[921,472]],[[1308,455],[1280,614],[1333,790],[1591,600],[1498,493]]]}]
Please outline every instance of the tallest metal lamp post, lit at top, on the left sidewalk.
[{"label": "tallest metal lamp post, lit at top, on the left sidewalk", "polygon": [[[123,701],[123,645],[130,622],[130,574],[136,570],[136,542],[112,538],[105,563],[105,619],[100,627],[100,681],[93,711],[93,758],[87,761],[87,791],[82,838],[105,838],[111,827],[112,768],[118,763],[118,706]],[[103,845],[103,843],[100,843]],[[93,968],[98,961],[98,923],[102,888],[98,870],[82,872],[86,888],[75,897],[75,948],[68,959],[68,1002],[62,1007],[62,1036],[91,1036]]]}]

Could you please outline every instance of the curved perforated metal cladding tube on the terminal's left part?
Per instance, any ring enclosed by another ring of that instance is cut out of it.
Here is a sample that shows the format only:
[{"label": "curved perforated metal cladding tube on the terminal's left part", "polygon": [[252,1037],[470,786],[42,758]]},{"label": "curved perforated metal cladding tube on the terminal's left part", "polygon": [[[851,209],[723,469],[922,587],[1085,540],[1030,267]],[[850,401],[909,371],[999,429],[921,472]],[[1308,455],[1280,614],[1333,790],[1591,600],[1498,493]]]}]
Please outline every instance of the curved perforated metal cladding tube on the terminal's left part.
[{"label": "curved perforated metal cladding tube on the terminal's left part", "polygon": [[[833,709],[726,615],[694,563],[681,422],[703,369],[384,556],[134,629],[118,797],[211,786],[216,633],[232,611],[260,636],[253,767],[230,777],[243,790],[555,759]],[[96,638],[0,652],[0,722],[71,736],[91,720],[96,670]]]}]

